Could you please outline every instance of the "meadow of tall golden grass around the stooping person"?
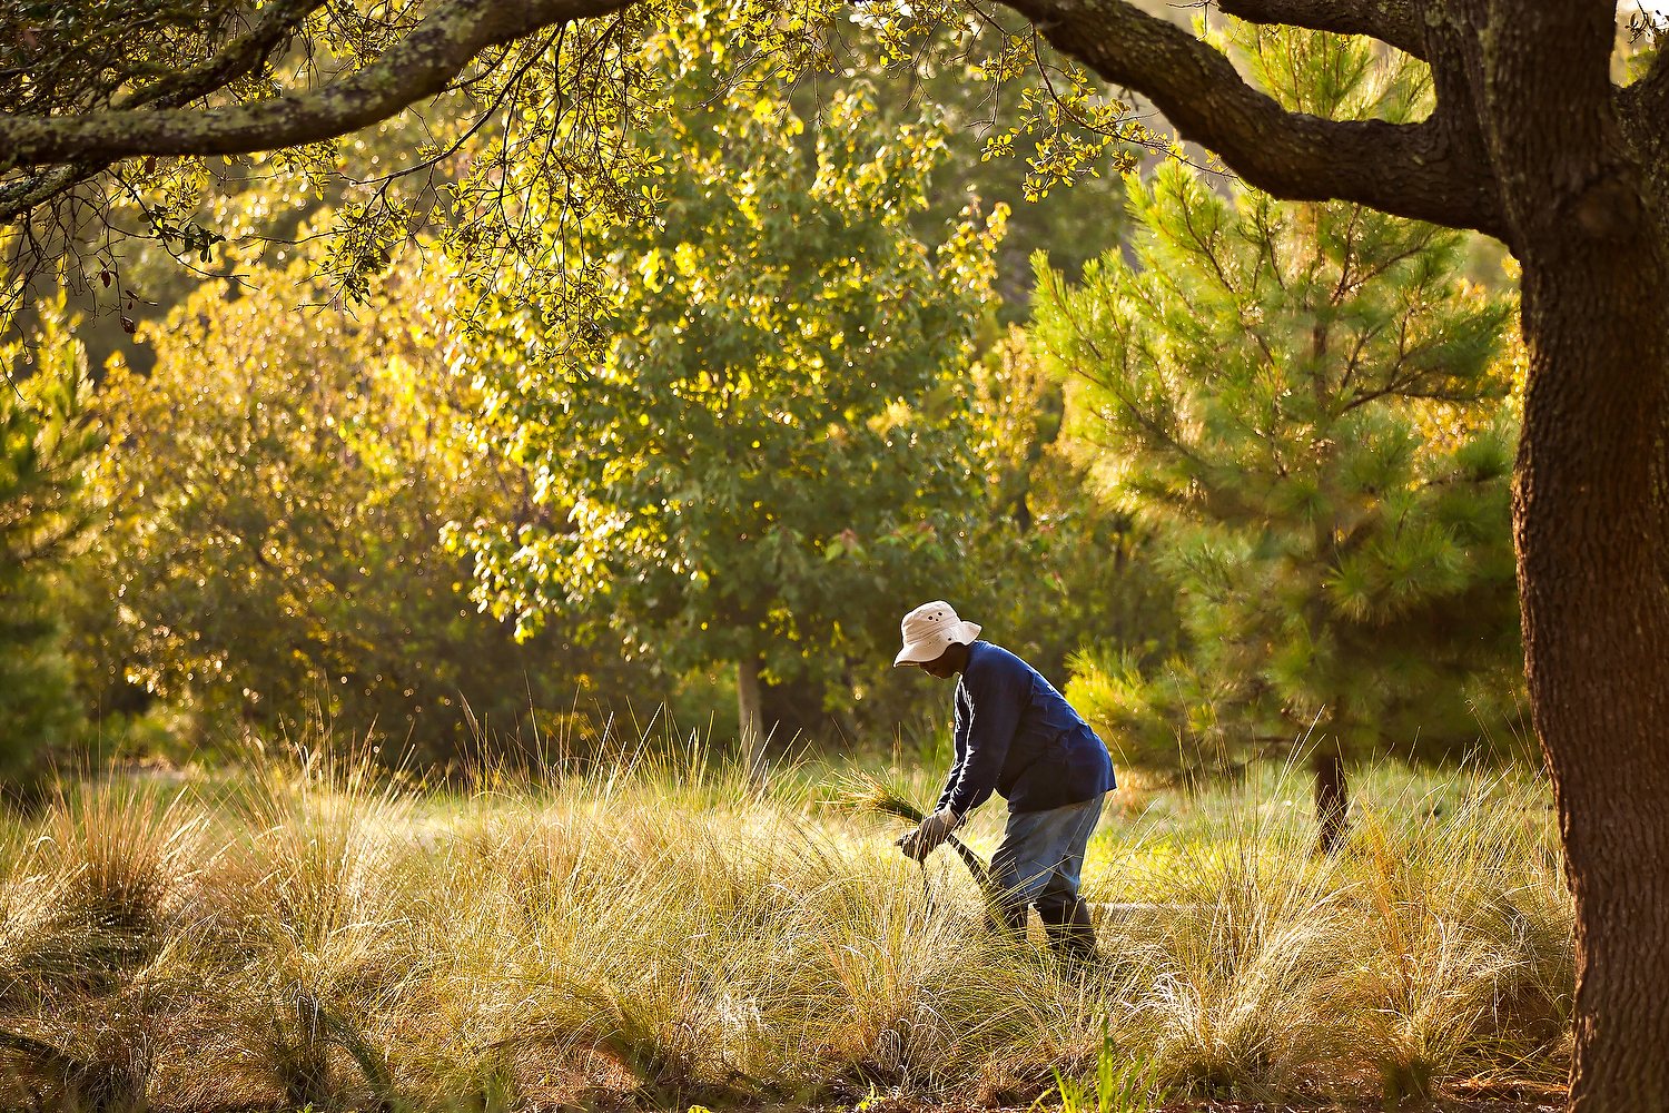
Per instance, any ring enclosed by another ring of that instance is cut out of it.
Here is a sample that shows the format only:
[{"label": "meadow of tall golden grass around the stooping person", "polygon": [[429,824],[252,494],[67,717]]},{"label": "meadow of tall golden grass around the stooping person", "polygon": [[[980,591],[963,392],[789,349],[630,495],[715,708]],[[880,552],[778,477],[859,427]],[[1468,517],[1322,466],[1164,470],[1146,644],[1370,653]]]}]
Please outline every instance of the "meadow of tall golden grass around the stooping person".
[{"label": "meadow of tall golden grass around the stooping person", "polygon": [[[678,744],[427,789],[350,754],[70,784],[3,829],[7,1108],[1298,1105],[1557,1085],[1572,938],[1545,786],[1127,778],[1103,961],[983,931],[948,851]],[[940,769],[870,771],[926,801]],[[1000,801],[968,841],[996,844]]]}]

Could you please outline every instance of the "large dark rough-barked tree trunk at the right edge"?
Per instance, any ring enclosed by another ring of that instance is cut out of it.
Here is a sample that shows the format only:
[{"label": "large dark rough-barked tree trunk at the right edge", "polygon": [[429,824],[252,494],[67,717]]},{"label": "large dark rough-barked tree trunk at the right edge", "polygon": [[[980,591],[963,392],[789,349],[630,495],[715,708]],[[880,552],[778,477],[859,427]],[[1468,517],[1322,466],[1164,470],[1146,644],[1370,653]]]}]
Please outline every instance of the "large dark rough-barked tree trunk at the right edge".
[{"label": "large dark rough-barked tree trunk at the right edge", "polygon": [[[1524,265],[1524,656],[1576,899],[1572,1108],[1669,1108],[1669,597],[1654,497],[1669,269],[1612,115],[1606,5],[1479,18],[1474,95]],[[1485,27],[1487,23],[1487,27]]]}]

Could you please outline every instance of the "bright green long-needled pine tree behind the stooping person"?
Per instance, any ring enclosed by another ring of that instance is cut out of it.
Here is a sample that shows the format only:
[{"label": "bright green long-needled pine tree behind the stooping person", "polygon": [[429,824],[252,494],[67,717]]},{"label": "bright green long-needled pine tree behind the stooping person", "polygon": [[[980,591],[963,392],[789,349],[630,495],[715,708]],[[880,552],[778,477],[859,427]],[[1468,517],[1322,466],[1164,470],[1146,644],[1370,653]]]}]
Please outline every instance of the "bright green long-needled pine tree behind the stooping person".
[{"label": "bright green long-needled pine tree behind the stooping person", "polygon": [[[1243,33],[1298,107],[1419,100],[1352,40]],[[1132,212],[1135,265],[1040,270],[1036,334],[1098,486],[1162,531],[1192,649],[1083,654],[1073,696],[1138,764],[1308,736],[1330,848],[1345,763],[1455,756],[1520,679],[1512,305],[1457,234],[1360,205],[1230,202],[1167,164]]]}]

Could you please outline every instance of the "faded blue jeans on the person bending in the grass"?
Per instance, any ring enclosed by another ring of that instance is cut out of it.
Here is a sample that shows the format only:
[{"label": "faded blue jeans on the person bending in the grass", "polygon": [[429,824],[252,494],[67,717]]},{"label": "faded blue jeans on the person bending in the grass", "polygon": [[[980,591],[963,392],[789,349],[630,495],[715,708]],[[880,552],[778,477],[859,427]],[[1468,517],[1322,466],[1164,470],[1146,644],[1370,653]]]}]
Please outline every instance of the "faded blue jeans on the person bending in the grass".
[{"label": "faded blue jeans on the person bending in the grass", "polygon": [[1050,811],[1011,811],[1003,843],[991,854],[991,881],[1008,926],[1026,926],[1026,904],[1045,924],[1070,921],[1078,906],[1083,848],[1102,818],[1107,793]]}]

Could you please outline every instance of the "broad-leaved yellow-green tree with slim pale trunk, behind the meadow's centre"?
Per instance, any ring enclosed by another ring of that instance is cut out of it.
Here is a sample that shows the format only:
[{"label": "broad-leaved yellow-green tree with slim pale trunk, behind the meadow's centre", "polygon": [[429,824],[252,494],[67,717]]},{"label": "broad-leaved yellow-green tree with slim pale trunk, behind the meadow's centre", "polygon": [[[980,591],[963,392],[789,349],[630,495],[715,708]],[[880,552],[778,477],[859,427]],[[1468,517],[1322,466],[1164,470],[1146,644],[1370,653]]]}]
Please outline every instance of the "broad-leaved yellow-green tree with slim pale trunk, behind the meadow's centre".
[{"label": "broad-leaved yellow-green tree with slim pale trunk, behind the meadow's centre", "polygon": [[661,125],[663,224],[609,240],[594,365],[499,304],[476,365],[559,526],[467,544],[481,597],[522,631],[608,606],[669,662],[734,661],[758,768],[761,669],[838,674],[891,644],[900,599],[965,579],[976,489],[955,374],[1001,212],[965,214],[935,252],[910,219],[940,130],[875,127],[841,93],[808,162],[788,105],[753,105]]}]

